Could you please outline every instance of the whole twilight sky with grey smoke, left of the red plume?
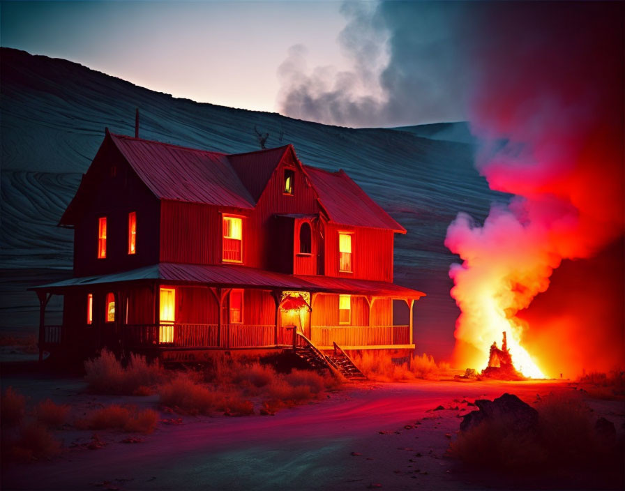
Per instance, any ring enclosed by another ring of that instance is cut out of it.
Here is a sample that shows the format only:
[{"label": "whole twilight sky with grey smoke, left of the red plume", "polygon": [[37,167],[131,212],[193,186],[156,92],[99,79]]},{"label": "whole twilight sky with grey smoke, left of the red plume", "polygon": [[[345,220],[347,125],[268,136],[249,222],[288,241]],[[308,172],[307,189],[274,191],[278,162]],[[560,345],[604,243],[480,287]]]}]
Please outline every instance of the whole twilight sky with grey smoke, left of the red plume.
[{"label": "whole twilight sky with grey smoke, left of the red plume", "polygon": [[399,126],[463,119],[464,5],[2,1],[0,43],[199,102]]}]

